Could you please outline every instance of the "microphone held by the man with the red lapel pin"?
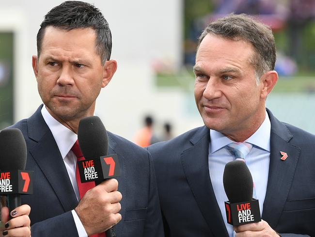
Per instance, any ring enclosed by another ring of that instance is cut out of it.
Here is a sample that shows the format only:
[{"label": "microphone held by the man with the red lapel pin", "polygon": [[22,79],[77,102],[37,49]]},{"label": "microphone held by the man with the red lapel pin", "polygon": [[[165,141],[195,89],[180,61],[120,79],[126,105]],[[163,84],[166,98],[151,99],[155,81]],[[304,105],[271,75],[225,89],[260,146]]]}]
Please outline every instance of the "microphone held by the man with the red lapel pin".
[{"label": "microphone held by the man with the red lapel pin", "polygon": [[223,186],[229,199],[224,202],[229,224],[237,226],[261,221],[259,202],[252,198],[252,174],[245,162],[234,160],[225,165]]}]

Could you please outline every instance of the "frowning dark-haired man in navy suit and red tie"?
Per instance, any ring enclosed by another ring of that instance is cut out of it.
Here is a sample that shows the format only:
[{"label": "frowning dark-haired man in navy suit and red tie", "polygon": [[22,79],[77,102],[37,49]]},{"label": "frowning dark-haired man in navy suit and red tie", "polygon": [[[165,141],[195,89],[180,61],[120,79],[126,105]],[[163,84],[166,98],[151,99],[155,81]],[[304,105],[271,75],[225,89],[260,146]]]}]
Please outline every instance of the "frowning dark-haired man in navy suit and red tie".
[{"label": "frowning dark-haired man in navy suit and red tie", "polygon": [[164,236],[152,159],[126,139],[108,133],[121,176],[84,196],[78,188],[72,147],[79,120],[93,116],[116,71],[110,52],[108,23],[89,3],[63,2],[41,24],[32,66],[44,105],[13,125],[27,143],[26,169],[34,171],[34,194],[22,198],[32,208],[32,237],[104,236],[98,233],[115,224],[118,237]]}]

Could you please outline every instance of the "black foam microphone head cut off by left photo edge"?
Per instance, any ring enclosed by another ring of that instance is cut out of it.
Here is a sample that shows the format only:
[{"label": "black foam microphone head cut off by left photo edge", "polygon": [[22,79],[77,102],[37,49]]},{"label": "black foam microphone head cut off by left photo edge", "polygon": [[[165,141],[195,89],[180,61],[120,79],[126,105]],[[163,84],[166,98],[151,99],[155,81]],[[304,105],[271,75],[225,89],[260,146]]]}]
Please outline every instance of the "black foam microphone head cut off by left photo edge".
[{"label": "black foam microphone head cut off by left photo edge", "polygon": [[0,132],[0,170],[25,169],[27,149],[24,136],[17,128]]}]

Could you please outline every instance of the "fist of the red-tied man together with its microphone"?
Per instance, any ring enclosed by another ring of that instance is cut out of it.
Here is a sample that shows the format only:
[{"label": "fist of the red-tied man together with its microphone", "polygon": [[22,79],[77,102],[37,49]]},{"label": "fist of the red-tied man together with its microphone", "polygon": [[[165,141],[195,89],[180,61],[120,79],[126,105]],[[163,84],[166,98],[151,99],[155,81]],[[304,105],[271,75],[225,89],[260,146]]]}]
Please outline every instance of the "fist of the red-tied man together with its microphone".
[{"label": "fist of the red-tied man together with its microphone", "polygon": [[78,140],[85,158],[78,163],[81,182],[94,181],[96,186],[85,193],[75,211],[88,236],[107,230],[107,237],[116,237],[113,226],[122,219],[118,213],[122,195],[118,181],[109,178],[120,175],[117,155],[108,155],[107,132],[96,116],[80,120]]}]

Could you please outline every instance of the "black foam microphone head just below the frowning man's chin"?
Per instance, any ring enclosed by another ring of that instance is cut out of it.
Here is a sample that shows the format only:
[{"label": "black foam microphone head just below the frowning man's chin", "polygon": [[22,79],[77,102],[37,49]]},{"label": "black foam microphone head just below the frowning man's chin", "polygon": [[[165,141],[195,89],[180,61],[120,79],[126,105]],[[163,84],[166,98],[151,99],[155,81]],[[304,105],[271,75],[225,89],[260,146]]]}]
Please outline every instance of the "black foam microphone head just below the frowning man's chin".
[{"label": "black foam microphone head just below the frowning man's chin", "polygon": [[107,132],[101,119],[97,116],[80,120],[78,141],[85,159],[93,159],[108,154]]}]

